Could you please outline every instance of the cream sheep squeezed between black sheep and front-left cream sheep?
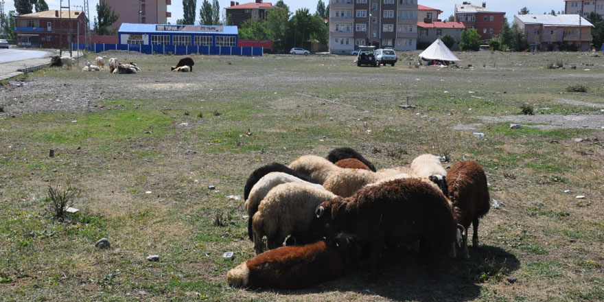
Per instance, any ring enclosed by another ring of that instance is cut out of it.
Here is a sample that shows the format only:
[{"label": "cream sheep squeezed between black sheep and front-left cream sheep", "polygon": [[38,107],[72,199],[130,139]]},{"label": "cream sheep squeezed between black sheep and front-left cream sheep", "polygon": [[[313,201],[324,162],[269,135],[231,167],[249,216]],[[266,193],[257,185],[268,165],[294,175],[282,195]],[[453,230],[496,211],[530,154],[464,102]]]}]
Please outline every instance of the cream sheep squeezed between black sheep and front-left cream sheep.
[{"label": "cream sheep squeezed between black sheep and front-left cream sheep", "polygon": [[[251,176],[250,176],[251,177]],[[315,186],[317,189],[324,189],[321,185],[309,183],[296,176],[293,176],[284,172],[270,172],[259,179],[257,183],[252,187],[248,194],[248,198],[245,198],[246,211],[248,212],[248,236],[250,240],[253,240],[253,229],[252,229],[252,218],[256,211],[258,211],[258,205],[266,197],[266,194],[277,185],[282,183],[308,183],[310,186]]]}]

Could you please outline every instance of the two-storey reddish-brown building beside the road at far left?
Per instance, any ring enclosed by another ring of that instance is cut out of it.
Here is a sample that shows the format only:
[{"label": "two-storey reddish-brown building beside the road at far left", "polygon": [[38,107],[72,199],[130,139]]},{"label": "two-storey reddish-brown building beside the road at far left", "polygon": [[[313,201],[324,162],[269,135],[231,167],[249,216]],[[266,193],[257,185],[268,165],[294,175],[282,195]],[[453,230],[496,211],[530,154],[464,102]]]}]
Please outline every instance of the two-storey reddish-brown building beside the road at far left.
[{"label": "two-storey reddish-brown building beside the road at far left", "polygon": [[19,46],[69,48],[71,42],[84,40],[88,18],[80,10],[46,10],[16,16],[15,33]]}]

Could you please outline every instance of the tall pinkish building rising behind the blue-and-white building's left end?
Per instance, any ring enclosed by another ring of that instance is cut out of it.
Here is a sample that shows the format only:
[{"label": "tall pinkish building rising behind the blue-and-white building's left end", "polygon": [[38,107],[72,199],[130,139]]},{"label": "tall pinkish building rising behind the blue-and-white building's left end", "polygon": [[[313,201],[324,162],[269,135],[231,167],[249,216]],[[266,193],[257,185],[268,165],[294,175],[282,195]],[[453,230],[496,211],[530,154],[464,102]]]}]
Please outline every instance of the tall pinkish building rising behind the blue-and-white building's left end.
[{"label": "tall pinkish building rising behind the blue-and-white building's left end", "polygon": [[116,30],[121,23],[166,24],[172,12],[167,11],[167,5],[172,0],[102,0],[111,6],[119,18],[110,27]]}]

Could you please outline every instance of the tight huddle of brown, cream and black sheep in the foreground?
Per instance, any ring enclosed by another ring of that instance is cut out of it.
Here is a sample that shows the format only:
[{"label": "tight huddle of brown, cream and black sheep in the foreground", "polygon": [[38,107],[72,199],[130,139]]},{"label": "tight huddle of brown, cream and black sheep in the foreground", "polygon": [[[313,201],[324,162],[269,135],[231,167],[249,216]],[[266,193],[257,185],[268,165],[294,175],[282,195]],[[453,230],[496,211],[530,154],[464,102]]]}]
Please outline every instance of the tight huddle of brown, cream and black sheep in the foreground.
[{"label": "tight huddle of brown, cream and black sheep in the foreground", "polygon": [[307,288],[353,262],[375,270],[382,250],[396,246],[419,248],[434,273],[458,248],[469,257],[466,230],[473,224],[478,246],[478,219],[490,207],[476,161],[447,172],[437,156],[423,154],[410,166],[376,170],[351,148],[260,167],[244,199],[257,255],[227,273],[231,286],[244,288]]}]

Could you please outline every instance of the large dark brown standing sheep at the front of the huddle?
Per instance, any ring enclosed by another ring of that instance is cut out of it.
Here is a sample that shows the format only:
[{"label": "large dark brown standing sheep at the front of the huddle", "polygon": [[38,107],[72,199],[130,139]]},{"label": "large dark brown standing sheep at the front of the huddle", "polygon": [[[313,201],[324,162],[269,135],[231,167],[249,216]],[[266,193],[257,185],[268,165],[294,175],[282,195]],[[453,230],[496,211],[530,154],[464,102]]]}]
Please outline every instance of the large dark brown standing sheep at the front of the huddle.
[{"label": "large dark brown standing sheep at the front of the huddle", "polygon": [[[416,178],[396,179],[365,187],[349,198],[337,197],[316,207],[309,236],[345,231],[371,246],[377,264],[384,244],[413,244],[432,264],[454,255],[458,230],[450,204],[438,189]],[[465,230],[463,230],[465,231]],[[316,232],[316,233],[315,233]],[[377,268],[377,266],[375,266]]]}]

